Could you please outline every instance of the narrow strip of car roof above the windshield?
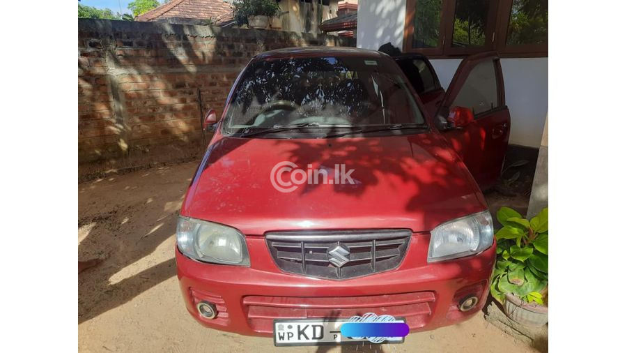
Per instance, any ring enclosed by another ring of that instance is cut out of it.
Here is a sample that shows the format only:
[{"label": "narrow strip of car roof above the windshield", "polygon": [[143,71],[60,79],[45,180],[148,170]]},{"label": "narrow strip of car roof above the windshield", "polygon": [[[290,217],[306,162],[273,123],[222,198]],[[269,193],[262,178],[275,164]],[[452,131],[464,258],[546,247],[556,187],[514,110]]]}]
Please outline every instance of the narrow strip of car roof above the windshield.
[{"label": "narrow strip of car roof above the windshield", "polygon": [[355,47],[323,47],[323,46],[311,46],[311,47],[289,47],[277,50],[270,50],[268,52],[262,52],[257,54],[254,59],[283,59],[289,57],[364,57],[380,59],[387,57],[387,54],[378,52],[376,50],[360,49]]}]

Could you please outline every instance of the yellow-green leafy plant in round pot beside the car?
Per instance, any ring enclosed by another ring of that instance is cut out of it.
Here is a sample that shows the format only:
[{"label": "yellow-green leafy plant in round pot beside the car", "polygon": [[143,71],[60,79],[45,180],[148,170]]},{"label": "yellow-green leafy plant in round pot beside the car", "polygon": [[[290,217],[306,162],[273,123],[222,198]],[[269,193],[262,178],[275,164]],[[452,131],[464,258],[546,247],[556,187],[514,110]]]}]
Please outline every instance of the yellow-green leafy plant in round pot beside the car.
[{"label": "yellow-green leafy plant in round pot beside the car", "polygon": [[502,207],[495,234],[497,262],[490,293],[503,304],[505,314],[520,324],[548,322],[548,209],[531,220]]}]

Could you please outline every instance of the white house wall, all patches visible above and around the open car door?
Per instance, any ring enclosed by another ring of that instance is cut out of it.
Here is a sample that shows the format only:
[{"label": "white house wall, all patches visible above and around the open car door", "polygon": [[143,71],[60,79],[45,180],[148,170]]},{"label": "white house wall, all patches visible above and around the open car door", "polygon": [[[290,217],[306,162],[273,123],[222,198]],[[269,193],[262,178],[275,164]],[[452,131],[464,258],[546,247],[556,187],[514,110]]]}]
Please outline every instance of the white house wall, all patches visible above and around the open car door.
[{"label": "white house wall, all patches visible above and around the open car door", "polygon": [[[359,0],[357,47],[378,49],[391,42],[403,48],[405,0]],[[461,59],[431,60],[448,87]],[[540,147],[548,110],[548,58],[501,59],[505,100],[511,115],[510,144]]]}]

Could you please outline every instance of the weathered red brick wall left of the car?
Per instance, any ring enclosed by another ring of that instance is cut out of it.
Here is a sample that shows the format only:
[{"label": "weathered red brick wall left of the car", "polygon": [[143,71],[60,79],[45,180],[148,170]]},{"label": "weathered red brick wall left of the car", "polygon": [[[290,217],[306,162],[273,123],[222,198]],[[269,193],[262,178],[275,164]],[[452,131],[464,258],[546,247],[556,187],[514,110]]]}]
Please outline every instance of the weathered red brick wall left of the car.
[{"label": "weathered red brick wall left of the car", "polygon": [[199,93],[205,111],[212,107],[222,114],[233,81],[251,57],[307,45],[355,46],[355,40],[79,20],[79,163],[140,165],[202,151]]}]

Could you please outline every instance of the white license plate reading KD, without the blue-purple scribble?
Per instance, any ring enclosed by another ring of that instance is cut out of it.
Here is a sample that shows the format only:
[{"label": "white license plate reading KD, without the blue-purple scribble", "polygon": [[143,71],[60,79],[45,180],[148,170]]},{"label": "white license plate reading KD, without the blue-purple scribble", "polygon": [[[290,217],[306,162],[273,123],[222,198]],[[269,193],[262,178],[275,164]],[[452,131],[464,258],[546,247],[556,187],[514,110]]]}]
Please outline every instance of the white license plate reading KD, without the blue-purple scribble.
[{"label": "white license plate reading KD, without the blue-purple scribble", "polygon": [[[350,338],[340,332],[348,320],[274,320],[274,345],[343,345],[370,343],[366,338]],[[405,322],[398,319],[393,322]],[[404,337],[389,338],[383,343],[403,343]]]}]

